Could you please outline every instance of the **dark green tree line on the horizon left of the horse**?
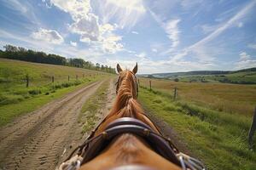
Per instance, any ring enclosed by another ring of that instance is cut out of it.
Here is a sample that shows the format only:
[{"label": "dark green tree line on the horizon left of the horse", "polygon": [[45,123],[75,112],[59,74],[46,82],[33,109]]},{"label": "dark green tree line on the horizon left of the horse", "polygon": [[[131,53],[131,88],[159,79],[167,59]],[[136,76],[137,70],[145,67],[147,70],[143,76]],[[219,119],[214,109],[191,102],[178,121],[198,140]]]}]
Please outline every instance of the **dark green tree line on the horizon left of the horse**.
[{"label": "dark green tree line on the horizon left of the horse", "polygon": [[35,63],[44,63],[51,65],[67,65],[79,68],[85,68],[96,71],[104,71],[109,73],[115,73],[114,68],[108,65],[96,65],[90,61],[85,61],[79,58],[65,58],[57,54],[46,54],[41,51],[34,51],[32,49],[26,49],[22,47],[15,47],[13,45],[3,46],[4,51],[0,50],[0,58],[5,59],[18,59],[24,61],[30,61]]}]

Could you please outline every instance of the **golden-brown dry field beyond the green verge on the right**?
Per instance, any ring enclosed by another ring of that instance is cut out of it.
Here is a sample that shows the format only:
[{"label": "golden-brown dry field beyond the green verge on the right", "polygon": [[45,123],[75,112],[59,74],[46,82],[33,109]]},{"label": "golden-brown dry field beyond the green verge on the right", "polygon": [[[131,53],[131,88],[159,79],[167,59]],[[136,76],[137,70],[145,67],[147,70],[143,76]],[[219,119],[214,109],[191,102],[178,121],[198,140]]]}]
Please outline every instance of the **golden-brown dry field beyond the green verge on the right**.
[{"label": "golden-brown dry field beyond the green verge on the right", "polygon": [[178,99],[217,111],[252,116],[256,106],[256,85],[173,82],[148,78],[139,78],[139,80],[144,87],[149,87],[151,80],[153,89],[170,95],[176,87]]}]

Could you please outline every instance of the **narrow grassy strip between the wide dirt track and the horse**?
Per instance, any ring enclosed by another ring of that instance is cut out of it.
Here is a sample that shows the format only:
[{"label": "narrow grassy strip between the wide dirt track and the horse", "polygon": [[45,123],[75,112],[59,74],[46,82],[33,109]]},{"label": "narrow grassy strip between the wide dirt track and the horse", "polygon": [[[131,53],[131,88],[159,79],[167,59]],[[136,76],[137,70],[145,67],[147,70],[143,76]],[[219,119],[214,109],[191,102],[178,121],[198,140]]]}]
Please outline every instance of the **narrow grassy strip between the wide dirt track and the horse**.
[{"label": "narrow grassy strip between the wide dirt track and the horse", "polygon": [[82,133],[90,132],[91,129],[96,126],[96,122],[101,120],[101,117],[96,113],[106,103],[108,97],[108,84],[108,81],[103,82],[101,87],[97,89],[96,93],[93,94],[93,96],[91,96],[83,105],[79,116],[79,122],[83,124]]}]

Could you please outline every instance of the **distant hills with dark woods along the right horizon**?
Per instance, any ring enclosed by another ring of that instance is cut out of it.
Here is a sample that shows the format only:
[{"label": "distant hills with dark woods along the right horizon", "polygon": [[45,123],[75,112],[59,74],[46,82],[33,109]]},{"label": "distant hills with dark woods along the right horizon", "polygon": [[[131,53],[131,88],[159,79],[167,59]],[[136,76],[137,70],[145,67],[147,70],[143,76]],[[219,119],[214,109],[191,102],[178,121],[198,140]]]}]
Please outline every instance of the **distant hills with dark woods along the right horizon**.
[{"label": "distant hills with dark woods along the right horizon", "polygon": [[142,75],[142,77],[163,78],[179,82],[225,82],[237,84],[256,84],[256,68],[249,68],[239,71],[188,71],[156,73],[151,75]]}]

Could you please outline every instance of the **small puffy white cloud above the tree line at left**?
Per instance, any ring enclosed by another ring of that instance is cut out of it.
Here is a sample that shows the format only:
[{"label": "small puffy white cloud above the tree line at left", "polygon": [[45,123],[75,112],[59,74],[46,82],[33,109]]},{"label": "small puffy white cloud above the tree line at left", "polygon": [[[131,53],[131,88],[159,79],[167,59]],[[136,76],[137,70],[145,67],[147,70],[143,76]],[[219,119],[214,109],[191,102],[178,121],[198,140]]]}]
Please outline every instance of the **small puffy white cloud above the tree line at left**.
[{"label": "small puffy white cloud above the tree line at left", "polygon": [[55,30],[46,30],[43,28],[40,28],[38,31],[32,32],[31,37],[36,40],[50,42],[54,44],[60,44],[64,41],[63,37],[61,37],[59,32]]}]

